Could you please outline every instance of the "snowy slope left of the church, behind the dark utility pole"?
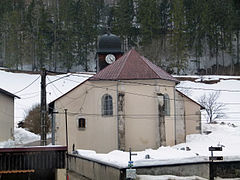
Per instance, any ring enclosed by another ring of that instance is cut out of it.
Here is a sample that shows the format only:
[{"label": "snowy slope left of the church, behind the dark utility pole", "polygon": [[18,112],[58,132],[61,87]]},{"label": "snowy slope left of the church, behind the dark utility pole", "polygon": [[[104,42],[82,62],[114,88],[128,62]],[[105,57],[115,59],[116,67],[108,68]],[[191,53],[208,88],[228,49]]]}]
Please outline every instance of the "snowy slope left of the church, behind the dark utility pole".
[{"label": "snowy slope left of the church, behind the dark utility pole", "polygon": [[[47,103],[65,94],[90,76],[91,74],[84,73],[47,76]],[[31,107],[40,103],[40,81],[39,74],[12,73],[0,70],[0,88],[20,97],[20,99],[15,98],[14,102],[15,141],[0,142],[0,147],[14,147],[40,139],[40,136],[16,128],[17,123],[25,118]]]}]

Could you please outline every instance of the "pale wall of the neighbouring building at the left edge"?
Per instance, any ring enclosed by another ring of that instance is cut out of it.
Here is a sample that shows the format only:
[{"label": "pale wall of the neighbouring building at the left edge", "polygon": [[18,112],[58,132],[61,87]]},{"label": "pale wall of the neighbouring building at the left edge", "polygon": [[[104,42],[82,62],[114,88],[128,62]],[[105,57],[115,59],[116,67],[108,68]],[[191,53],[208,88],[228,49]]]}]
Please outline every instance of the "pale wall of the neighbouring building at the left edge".
[{"label": "pale wall of the neighbouring building at the left edge", "polygon": [[0,93],[0,141],[13,138],[14,98]]}]

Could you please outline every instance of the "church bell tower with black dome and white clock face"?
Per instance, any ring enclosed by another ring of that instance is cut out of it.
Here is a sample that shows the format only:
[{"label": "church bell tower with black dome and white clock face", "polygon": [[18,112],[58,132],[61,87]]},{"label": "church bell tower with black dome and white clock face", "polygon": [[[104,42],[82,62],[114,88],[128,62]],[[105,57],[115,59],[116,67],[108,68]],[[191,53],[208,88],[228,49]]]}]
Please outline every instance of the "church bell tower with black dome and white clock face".
[{"label": "church bell tower with black dome and white clock face", "polygon": [[111,33],[102,35],[98,41],[97,72],[112,64],[122,55],[120,38]]}]

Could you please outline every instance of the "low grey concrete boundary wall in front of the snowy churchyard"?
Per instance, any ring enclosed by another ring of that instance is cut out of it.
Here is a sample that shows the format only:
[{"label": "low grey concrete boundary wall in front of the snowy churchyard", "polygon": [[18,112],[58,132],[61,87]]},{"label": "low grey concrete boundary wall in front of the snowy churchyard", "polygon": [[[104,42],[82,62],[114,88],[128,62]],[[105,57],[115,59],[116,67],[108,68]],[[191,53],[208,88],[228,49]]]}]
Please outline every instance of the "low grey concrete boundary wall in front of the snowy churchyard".
[{"label": "low grey concrete boundary wall in front of the snowy churchyard", "polygon": [[[196,162],[172,165],[134,167],[137,175],[176,175],[212,177],[240,177],[239,161]],[[211,173],[210,173],[211,171]],[[211,175],[210,175],[211,174]],[[69,156],[69,177],[71,180],[125,180],[126,169],[97,162],[76,155]]]}]

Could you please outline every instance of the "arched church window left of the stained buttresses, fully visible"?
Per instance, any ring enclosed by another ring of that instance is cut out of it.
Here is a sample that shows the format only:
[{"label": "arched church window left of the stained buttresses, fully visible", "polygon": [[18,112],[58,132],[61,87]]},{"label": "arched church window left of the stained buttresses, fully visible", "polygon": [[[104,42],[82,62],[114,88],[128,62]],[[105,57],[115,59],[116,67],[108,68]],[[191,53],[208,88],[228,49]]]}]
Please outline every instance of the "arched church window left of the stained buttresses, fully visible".
[{"label": "arched church window left of the stained buttresses, fully visible", "polygon": [[112,116],[113,115],[113,103],[112,96],[105,94],[102,97],[102,115]]}]

